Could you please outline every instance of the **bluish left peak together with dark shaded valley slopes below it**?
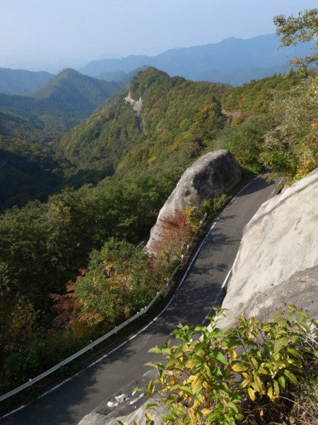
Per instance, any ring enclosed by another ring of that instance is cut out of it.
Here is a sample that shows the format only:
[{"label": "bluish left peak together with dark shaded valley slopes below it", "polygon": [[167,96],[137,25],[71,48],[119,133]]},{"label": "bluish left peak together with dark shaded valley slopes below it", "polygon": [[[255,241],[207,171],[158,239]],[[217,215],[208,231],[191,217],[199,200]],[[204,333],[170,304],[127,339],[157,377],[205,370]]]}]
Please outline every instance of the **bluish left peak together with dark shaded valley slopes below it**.
[{"label": "bluish left peak together with dark shaded valley slopes below it", "polygon": [[28,96],[0,94],[1,210],[60,190],[72,167],[52,144],[120,88],[65,69]]}]

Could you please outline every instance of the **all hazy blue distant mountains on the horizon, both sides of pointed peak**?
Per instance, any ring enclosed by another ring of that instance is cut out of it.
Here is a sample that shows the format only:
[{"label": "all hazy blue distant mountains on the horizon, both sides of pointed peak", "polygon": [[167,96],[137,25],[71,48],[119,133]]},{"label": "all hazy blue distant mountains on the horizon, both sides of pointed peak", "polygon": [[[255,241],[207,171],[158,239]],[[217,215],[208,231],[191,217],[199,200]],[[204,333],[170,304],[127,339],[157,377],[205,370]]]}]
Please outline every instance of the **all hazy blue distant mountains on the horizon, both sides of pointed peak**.
[{"label": "all hazy blue distant mountains on the horizon, both sides of pointed peak", "polygon": [[[171,49],[157,56],[130,55],[121,59],[95,60],[78,72],[95,79],[129,84],[131,72],[155,67],[170,76],[179,75],[194,81],[212,81],[240,86],[251,79],[284,74],[293,57],[304,55],[312,43],[278,49],[276,34],[259,35],[243,40],[223,41],[194,47]],[[0,68],[0,93],[28,94],[54,77],[48,72]]]}]

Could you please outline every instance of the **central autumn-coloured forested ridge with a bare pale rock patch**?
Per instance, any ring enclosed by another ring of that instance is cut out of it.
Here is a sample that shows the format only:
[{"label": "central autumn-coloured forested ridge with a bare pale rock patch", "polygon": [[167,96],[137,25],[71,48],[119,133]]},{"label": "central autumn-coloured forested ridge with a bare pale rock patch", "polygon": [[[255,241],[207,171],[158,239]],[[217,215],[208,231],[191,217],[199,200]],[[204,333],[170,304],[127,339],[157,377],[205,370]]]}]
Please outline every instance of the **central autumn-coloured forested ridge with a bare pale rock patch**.
[{"label": "central autumn-coloured forested ridge with a bare pale rock patch", "polygon": [[[177,170],[199,155],[223,127],[225,86],[169,77],[152,67],[90,120],[62,138],[59,150],[78,169],[117,168],[117,174],[166,167]],[[124,97],[130,99],[124,101]],[[137,112],[133,99],[141,99]]]}]

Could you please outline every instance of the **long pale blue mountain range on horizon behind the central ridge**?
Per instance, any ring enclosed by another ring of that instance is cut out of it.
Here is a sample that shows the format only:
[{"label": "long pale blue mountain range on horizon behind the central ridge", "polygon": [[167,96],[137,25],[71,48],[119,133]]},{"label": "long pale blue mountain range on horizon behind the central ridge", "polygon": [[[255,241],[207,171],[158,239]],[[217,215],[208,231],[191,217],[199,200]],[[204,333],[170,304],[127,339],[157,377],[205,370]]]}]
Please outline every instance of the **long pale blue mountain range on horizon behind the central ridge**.
[{"label": "long pale blue mountain range on horizon behind the central ridge", "polygon": [[[213,79],[213,82],[240,85],[277,71],[285,72],[288,69],[286,62],[304,55],[311,46],[310,43],[302,43],[278,49],[279,45],[276,34],[247,40],[227,38],[215,44],[167,50],[158,56],[130,55],[122,59],[93,61],[78,71],[96,77],[105,73],[131,72],[136,67],[147,65],[162,69],[170,76],[179,75],[194,81]],[[240,78],[237,78],[237,71]]]}]

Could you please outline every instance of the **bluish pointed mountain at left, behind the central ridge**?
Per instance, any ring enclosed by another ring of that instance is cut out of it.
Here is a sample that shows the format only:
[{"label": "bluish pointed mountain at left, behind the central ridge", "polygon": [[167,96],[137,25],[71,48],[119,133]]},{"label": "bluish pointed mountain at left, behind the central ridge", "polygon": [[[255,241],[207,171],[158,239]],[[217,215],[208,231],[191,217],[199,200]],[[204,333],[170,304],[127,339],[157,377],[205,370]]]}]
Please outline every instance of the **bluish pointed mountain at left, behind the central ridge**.
[{"label": "bluish pointed mountain at left, behind the central ridge", "polygon": [[45,142],[60,137],[86,120],[122,84],[64,69],[28,96],[0,94],[0,135]]}]

